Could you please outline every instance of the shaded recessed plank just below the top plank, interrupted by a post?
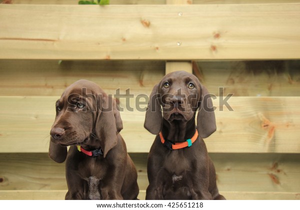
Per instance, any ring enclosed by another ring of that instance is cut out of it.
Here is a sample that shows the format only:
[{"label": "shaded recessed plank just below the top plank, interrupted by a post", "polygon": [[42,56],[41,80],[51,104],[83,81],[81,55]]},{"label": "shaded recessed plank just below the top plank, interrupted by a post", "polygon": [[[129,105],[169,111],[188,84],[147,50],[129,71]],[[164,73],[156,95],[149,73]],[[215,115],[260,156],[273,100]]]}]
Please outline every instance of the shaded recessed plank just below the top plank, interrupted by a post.
[{"label": "shaded recessed plank just below the top plank, interrupted by a post", "polygon": [[[194,74],[210,93],[234,96],[300,96],[300,60],[200,61]],[[1,96],[56,96],[85,78],[107,93],[117,88],[150,93],[164,75],[164,61],[0,60]],[[220,92],[219,87],[222,87]]]}]

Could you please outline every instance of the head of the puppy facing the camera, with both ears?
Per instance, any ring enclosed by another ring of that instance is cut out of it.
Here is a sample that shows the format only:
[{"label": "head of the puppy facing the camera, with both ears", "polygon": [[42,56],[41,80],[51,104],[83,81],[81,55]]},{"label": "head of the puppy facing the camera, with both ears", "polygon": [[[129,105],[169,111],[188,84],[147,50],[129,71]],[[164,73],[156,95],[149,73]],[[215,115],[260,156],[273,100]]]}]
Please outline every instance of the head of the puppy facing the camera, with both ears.
[{"label": "head of the puppy facing the camera, with both ears", "polygon": [[[162,119],[188,121],[198,109],[197,130],[202,138],[216,129],[212,101],[207,89],[197,77],[185,71],[165,75],[150,94],[144,127],[158,134]],[[162,111],[161,111],[162,110]]]}]

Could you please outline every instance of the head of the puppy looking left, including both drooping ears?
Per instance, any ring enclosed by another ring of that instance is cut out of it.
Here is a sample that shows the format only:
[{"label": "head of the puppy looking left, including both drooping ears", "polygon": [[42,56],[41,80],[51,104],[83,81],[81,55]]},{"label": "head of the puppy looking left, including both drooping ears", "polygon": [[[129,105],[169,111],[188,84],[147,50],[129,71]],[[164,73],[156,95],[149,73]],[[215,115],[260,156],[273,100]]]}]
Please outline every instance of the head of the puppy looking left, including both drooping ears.
[{"label": "head of the puppy looking left, including both drooping ears", "polygon": [[56,162],[66,158],[66,146],[97,146],[104,157],[116,145],[122,129],[115,100],[95,83],[78,80],[68,86],[56,101],[56,116],[50,131],[49,157]]}]

